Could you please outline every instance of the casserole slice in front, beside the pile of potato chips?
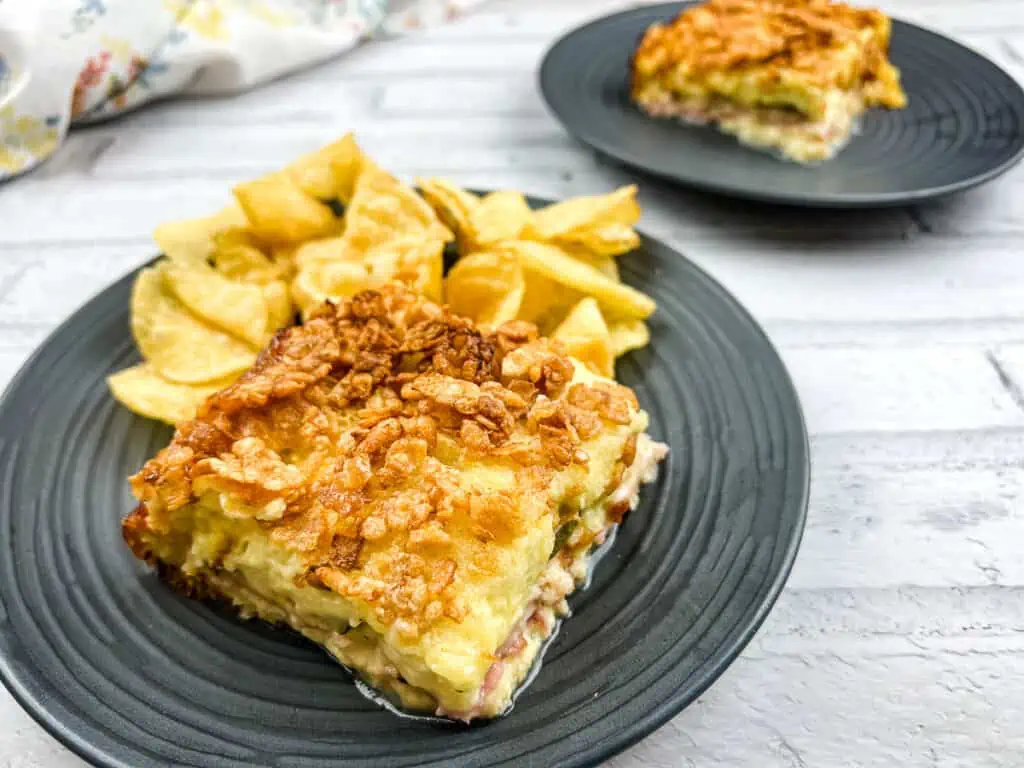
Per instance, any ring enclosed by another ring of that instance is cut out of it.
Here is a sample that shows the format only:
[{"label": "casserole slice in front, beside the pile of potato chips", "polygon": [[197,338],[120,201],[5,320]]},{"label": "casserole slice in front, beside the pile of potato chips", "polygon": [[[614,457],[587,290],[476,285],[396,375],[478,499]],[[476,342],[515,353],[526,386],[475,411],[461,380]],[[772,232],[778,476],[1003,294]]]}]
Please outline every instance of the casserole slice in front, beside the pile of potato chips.
[{"label": "casserole slice in front, beside the pile of potato chips", "polygon": [[494,717],[653,478],[646,426],[534,326],[388,285],[279,332],[132,477],[123,532],[403,709]]}]

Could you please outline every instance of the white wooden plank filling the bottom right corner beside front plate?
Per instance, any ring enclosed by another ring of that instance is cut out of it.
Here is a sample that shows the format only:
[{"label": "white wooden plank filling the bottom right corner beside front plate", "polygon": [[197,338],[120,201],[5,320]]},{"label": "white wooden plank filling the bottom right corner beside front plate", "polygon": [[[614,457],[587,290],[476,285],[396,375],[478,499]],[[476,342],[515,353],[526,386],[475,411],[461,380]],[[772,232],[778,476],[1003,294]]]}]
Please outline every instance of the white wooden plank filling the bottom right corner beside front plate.
[{"label": "white wooden plank filling the bottom right corner beside front plate", "polygon": [[648,766],[1015,768],[1018,653],[742,657],[692,708],[612,759]]}]

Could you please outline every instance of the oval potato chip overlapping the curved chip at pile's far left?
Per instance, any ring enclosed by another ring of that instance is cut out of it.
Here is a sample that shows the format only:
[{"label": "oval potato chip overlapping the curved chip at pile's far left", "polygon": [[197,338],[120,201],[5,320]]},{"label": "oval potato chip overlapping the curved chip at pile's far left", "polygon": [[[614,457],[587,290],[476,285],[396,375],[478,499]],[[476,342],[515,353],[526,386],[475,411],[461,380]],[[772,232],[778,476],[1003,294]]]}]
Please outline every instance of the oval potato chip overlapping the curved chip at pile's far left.
[{"label": "oval potato chip overlapping the curved chip at pile's far left", "polygon": [[220,275],[209,266],[167,264],[164,283],[193,314],[243,341],[261,346],[269,309],[260,287]]}]

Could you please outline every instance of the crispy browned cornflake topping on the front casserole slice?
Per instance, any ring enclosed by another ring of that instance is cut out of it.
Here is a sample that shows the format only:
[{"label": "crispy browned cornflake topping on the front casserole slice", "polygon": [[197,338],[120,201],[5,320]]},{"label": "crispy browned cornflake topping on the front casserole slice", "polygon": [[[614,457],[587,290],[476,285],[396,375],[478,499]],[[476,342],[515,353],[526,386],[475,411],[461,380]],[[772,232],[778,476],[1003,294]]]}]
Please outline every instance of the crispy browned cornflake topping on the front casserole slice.
[{"label": "crispy browned cornflake topping on the front casserole slice", "polygon": [[[586,466],[583,444],[635,414],[626,387],[572,378],[528,324],[483,333],[399,286],[366,291],[280,332],[132,489],[154,530],[215,495],[300,555],[308,584],[415,639],[466,613],[456,540],[470,537],[468,567],[485,569],[487,547],[545,511],[554,473]],[[480,466],[509,487],[467,479]]]}]

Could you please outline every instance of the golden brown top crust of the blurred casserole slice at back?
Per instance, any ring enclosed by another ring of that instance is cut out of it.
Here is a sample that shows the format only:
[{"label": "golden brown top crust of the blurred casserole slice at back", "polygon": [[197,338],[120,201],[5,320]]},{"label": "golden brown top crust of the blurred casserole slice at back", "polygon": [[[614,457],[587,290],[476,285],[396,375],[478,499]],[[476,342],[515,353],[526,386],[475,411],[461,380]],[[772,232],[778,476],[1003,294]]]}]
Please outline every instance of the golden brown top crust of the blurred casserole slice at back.
[{"label": "golden brown top crust of the blurred casserole slice at back", "polygon": [[830,0],[709,0],[646,31],[633,59],[634,95],[657,79],[717,92],[716,76],[756,73],[764,86],[862,86],[868,104],[900,108],[890,28],[879,10]]}]

